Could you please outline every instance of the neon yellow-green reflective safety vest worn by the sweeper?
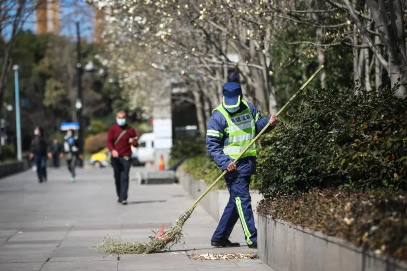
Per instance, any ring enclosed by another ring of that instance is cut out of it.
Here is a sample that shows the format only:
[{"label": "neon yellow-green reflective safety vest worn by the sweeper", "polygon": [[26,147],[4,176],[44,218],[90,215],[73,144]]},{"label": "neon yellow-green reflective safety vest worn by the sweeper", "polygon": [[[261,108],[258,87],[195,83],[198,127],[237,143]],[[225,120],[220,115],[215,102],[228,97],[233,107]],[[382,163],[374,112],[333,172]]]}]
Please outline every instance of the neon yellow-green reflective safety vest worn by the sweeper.
[{"label": "neon yellow-green reflective safety vest worn by the sweeper", "polygon": [[[223,153],[232,159],[238,158],[256,136],[256,124],[253,115],[247,102],[242,100],[242,103],[246,106],[246,109],[236,115],[229,115],[222,105],[216,108],[225,117],[228,125],[225,128],[225,132],[229,133],[228,145],[223,146]],[[242,158],[256,155],[256,146],[253,144]]]}]

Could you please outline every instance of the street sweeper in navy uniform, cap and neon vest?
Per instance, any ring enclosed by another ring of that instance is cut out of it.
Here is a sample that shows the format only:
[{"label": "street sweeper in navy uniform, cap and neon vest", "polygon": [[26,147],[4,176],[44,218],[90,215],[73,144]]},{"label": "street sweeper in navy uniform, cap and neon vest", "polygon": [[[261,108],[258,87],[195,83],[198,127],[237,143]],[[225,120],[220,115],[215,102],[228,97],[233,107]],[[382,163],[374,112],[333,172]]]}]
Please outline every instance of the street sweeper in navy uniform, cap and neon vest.
[{"label": "street sweeper in navy uniform, cap and neon vest", "polygon": [[257,230],[249,193],[250,176],[256,169],[255,144],[236,164],[233,161],[268,122],[272,129],[277,118],[274,115],[262,117],[259,110],[242,99],[239,74],[231,74],[222,88],[223,101],[209,119],[206,145],[218,167],[228,171],[225,180],[230,197],[211,244],[215,247],[240,246],[229,240],[233,227],[240,219],[246,243],[250,248],[257,248]]}]

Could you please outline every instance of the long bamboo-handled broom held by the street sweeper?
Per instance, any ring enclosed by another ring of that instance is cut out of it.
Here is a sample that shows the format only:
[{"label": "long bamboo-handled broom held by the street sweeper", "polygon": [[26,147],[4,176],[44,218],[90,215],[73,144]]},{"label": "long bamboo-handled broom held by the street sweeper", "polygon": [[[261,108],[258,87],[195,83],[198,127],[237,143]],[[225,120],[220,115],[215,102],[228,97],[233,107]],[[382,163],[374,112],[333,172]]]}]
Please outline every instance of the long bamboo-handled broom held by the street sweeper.
[{"label": "long bamboo-handled broom held by the street sweeper", "polygon": [[[298,89],[298,91],[291,97],[288,102],[277,112],[276,117],[278,117],[290,103],[294,101],[297,95],[309,84],[309,82],[314,79],[314,77],[324,69],[324,65],[319,67],[316,72],[311,75],[311,77]],[[238,158],[233,161],[236,163],[247,150],[257,141],[257,139],[269,128],[270,123],[257,134],[257,136],[250,142],[250,144],[243,150],[243,152],[238,156]],[[157,253],[165,248],[170,248],[172,245],[179,242],[182,237],[182,227],[185,222],[191,216],[193,210],[195,209],[198,202],[205,197],[206,194],[211,191],[211,189],[219,182],[219,180],[226,174],[227,170],[224,170],[222,174],[213,182],[213,184],[200,195],[194,203],[177,219],[175,225],[164,231],[162,228],[155,236],[150,236],[145,242],[138,243],[132,241],[124,241],[120,239],[114,239],[110,236],[104,237],[99,244],[96,244],[96,248],[99,251],[106,253],[120,253],[120,254],[144,254],[144,253]]]}]

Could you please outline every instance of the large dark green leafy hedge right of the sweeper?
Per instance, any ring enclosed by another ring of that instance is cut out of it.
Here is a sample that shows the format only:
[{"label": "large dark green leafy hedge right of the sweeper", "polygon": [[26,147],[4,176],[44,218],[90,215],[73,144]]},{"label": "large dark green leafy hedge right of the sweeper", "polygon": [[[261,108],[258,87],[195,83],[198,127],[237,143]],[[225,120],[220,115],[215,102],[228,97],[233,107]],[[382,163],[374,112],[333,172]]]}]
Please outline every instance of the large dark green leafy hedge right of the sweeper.
[{"label": "large dark green leafy hedge right of the sweeper", "polygon": [[407,190],[407,108],[394,90],[309,92],[274,136],[263,138],[265,197],[311,188]]}]

